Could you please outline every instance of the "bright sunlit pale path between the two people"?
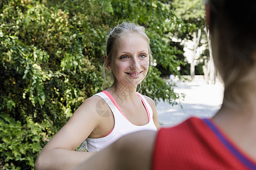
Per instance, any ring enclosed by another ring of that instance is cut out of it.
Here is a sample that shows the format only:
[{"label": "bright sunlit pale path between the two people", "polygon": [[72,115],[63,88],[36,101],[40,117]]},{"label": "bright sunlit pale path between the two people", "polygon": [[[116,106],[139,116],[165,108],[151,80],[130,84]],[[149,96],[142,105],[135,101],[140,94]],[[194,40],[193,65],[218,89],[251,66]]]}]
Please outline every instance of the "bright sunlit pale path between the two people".
[{"label": "bright sunlit pale path between the two people", "polygon": [[[157,103],[158,118],[161,126],[174,126],[190,116],[212,117],[221,107],[223,85],[206,84],[200,79],[193,82],[175,82],[175,92],[185,94],[180,104],[171,106],[160,101]],[[182,108],[181,108],[182,105]]]}]

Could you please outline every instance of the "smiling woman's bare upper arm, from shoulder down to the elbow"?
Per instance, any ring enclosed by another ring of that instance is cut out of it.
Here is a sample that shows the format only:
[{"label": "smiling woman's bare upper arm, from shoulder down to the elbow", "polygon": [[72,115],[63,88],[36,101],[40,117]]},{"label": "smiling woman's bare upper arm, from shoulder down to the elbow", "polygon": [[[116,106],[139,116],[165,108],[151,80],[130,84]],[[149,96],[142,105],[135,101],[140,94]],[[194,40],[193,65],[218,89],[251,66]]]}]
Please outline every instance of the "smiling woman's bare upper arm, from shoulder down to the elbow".
[{"label": "smiling woman's bare upper arm, from shoulder down to the elbow", "polygon": [[99,101],[101,101],[99,96],[86,99],[68,122],[54,135],[44,150],[53,148],[75,150],[102,122],[96,110]]}]

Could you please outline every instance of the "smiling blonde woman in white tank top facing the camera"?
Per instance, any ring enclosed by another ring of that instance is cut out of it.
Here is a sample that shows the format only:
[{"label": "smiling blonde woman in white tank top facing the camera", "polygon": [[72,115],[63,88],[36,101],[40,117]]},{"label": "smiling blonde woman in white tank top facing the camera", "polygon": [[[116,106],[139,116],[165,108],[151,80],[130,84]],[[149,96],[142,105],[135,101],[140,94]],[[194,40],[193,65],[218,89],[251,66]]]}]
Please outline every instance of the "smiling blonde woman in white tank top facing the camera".
[{"label": "smiling blonde woman in white tank top facing the camera", "polygon": [[[70,169],[125,134],[159,129],[154,101],[136,92],[152,61],[144,27],[117,25],[107,37],[106,52],[104,66],[114,83],[83,102],[43,148],[35,169]],[[89,152],[74,151],[81,143],[79,151]]]}]

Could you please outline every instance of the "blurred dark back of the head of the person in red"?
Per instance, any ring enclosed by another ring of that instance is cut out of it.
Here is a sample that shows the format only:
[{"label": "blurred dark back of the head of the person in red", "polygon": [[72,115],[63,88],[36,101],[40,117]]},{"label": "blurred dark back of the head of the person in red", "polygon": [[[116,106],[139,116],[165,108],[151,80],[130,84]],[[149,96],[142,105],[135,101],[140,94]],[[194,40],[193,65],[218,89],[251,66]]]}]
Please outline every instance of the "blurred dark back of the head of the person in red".
[{"label": "blurred dark back of the head of the person in red", "polygon": [[238,103],[255,82],[256,1],[209,0],[208,5],[213,56],[225,84],[224,99]]}]

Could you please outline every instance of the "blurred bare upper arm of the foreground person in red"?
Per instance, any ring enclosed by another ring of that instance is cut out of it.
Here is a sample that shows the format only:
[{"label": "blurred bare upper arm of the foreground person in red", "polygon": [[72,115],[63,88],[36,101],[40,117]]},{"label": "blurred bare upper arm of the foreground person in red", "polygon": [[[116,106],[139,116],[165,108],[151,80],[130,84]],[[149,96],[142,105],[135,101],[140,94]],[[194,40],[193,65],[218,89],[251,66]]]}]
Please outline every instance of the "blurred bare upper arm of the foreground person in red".
[{"label": "blurred bare upper arm of the foreground person in red", "polygon": [[121,137],[75,169],[151,169],[156,131],[136,131]]}]

